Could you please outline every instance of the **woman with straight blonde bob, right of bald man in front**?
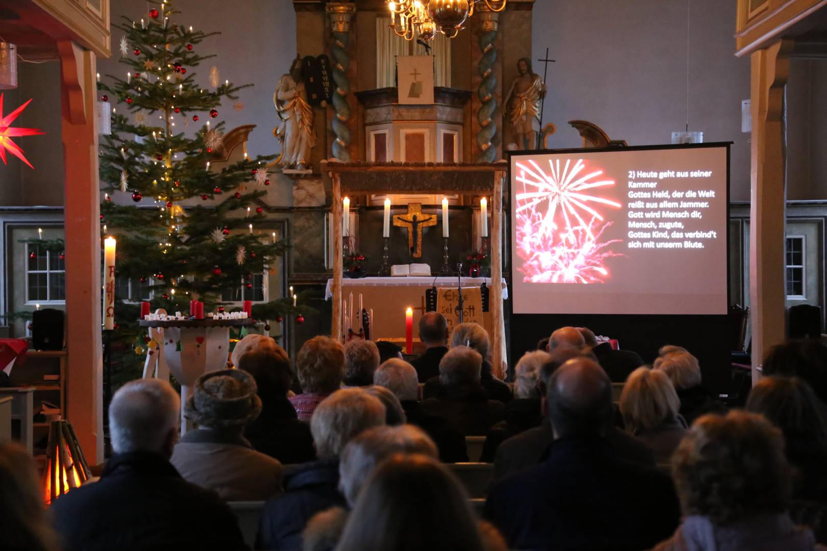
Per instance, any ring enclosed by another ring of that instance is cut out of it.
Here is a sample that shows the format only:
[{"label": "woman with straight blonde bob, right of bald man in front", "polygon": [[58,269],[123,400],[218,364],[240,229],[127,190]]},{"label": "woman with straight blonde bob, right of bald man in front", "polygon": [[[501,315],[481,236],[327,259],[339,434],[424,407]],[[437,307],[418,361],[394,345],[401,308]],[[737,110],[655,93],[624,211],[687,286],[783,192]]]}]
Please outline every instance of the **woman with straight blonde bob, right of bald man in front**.
[{"label": "woman with straight blonde bob, right of bald man in front", "polygon": [[624,425],[652,449],[656,463],[669,463],[686,434],[680,406],[672,381],[661,371],[637,368],[626,380],[620,395]]}]

